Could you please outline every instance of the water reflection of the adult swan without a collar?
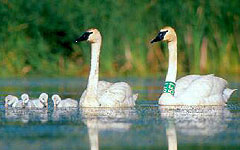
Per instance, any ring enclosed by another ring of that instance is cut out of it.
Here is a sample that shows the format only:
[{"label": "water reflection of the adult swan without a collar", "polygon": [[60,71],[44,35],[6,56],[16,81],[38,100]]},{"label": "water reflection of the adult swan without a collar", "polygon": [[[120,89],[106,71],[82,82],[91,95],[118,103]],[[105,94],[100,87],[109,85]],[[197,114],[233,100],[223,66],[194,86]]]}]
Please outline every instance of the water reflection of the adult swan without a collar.
[{"label": "water reflection of the adult swan without a collar", "polygon": [[80,113],[88,128],[91,150],[99,149],[99,132],[128,131],[130,120],[138,118],[135,108],[82,108]]}]

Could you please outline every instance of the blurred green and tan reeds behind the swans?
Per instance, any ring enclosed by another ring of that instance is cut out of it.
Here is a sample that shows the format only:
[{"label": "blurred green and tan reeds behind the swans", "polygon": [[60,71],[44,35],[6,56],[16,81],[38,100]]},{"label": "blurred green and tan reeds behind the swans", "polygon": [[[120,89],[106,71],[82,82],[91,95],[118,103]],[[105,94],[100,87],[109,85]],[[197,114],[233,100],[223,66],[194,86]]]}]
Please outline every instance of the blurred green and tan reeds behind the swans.
[{"label": "blurred green and tan reeds behind the swans", "polygon": [[239,75],[239,0],[0,0],[0,76],[87,76],[88,28],[103,36],[103,76],[160,76],[163,26],[178,34],[178,72]]}]

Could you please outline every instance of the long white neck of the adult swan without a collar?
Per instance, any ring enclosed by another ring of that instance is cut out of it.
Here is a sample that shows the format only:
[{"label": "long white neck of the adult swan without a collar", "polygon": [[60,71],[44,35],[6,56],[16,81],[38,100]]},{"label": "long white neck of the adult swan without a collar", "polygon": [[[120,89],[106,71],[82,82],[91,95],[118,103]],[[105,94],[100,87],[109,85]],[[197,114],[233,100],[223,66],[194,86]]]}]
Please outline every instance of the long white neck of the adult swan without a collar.
[{"label": "long white neck of the adult swan without a collar", "polygon": [[98,73],[99,73],[99,55],[101,41],[91,44],[91,67],[87,85],[87,95],[97,97]]}]

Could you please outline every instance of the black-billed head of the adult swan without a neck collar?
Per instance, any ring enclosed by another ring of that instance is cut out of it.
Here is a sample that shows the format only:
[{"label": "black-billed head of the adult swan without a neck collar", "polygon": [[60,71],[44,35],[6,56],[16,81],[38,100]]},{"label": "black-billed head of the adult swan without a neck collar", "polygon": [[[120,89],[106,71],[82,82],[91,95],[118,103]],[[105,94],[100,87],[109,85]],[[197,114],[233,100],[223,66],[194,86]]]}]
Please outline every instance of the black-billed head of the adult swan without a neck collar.
[{"label": "black-billed head of the adult swan without a neck collar", "polygon": [[76,39],[76,42],[88,41],[90,43],[101,42],[102,36],[97,29],[88,29],[84,32],[79,38]]}]

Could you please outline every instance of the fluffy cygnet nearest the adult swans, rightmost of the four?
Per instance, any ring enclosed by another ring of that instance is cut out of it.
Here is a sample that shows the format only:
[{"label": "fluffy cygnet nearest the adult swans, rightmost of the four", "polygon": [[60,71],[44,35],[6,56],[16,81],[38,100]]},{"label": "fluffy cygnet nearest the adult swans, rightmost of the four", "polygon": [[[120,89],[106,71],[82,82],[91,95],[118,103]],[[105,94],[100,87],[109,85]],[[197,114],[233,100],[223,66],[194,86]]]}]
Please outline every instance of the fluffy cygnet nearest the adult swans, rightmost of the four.
[{"label": "fluffy cygnet nearest the adult swans, rightmost of the four", "polygon": [[57,94],[54,94],[52,96],[52,101],[53,101],[54,108],[56,108],[56,107],[78,107],[78,101],[71,99],[71,98],[62,100],[61,97]]}]

